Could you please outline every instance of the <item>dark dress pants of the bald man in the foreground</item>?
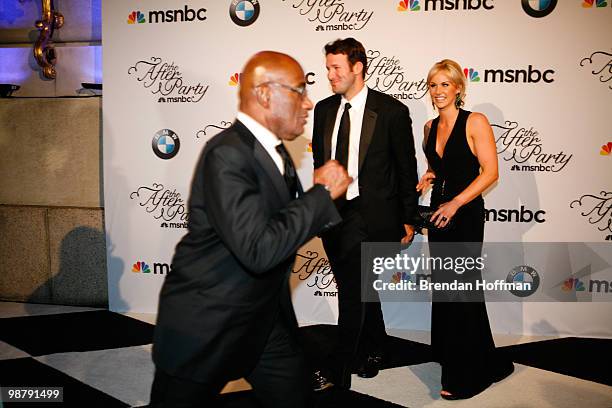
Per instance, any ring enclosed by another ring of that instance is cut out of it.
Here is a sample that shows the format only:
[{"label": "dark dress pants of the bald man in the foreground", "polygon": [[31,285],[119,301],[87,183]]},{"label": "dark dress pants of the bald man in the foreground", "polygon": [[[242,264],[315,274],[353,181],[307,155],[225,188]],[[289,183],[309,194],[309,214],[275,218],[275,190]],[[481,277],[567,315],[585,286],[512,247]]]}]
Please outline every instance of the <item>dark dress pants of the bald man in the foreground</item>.
[{"label": "dark dress pants of the bald man in the foreground", "polygon": [[[303,408],[310,404],[310,388],[302,351],[280,319],[272,329],[257,365],[245,378],[263,407]],[[229,380],[232,379],[211,378],[210,382],[196,382],[156,370],[149,407],[218,406],[219,392]]]}]

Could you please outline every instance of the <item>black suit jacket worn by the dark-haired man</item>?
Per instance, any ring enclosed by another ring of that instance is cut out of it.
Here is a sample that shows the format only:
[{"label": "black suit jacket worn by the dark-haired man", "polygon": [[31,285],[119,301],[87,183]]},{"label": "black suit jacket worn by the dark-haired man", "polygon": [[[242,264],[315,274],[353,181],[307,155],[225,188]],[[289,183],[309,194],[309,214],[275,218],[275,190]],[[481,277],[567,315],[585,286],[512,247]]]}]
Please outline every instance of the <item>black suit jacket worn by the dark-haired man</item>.
[{"label": "black suit jacket worn by the dark-haired man", "polygon": [[[332,95],[315,106],[315,168],[331,158],[340,100],[340,95]],[[412,224],[417,208],[417,177],[408,108],[389,95],[368,89],[359,141],[358,181],[369,241],[399,241],[405,235],[403,224]]]}]

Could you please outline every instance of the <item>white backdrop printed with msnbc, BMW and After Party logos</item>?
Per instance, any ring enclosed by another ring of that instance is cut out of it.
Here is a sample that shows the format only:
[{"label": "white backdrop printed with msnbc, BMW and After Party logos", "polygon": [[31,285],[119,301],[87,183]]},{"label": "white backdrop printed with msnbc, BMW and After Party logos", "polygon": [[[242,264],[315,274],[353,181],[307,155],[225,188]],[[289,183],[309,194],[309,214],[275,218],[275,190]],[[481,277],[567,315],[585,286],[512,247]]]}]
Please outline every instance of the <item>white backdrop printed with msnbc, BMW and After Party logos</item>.
[{"label": "white backdrop printed with msnbc, BMW and After Party logos", "polygon": [[[487,241],[612,250],[609,0],[105,0],[102,12],[112,310],[156,311],[186,232],[195,162],[233,121],[245,61],[260,50],[292,55],[316,102],[331,94],[323,46],[345,37],[367,49],[367,85],[410,108],[419,174],[423,125],[436,116],[427,72],[443,58],[464,67],[465,108],[487,115],[499,157],[499,181],[485,196]],[[309,126],[289,146],[306,187]],[[318,239],[300,249],[291,282],[301,324],[336,321],[336,283]],[[586,265],[558,286],[609,301],[490,303],[493,330],[612,337],[609,265]],[[429,329],[428,302],[383,306],[388,327]]]}]

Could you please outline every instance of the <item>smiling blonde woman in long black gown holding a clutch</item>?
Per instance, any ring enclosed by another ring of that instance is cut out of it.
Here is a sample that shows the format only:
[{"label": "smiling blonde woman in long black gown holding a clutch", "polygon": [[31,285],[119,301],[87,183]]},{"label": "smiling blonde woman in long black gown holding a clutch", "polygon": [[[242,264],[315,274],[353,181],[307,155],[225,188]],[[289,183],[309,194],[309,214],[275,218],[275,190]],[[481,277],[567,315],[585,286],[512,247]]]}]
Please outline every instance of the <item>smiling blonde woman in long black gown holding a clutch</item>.
[{"label": "smiling blonde woman in long black gown holding a clutch", "polygon": [[[484,237],[481,194],[498,177],[493,130],[485,115],[462,109],[466,81],[456,62],[436,63],[427,83],[439,115],[425,125],[428,170],[417,191],[433,185],[431,205],[437,210],[431,221],[439,229],[428,231],[430,252],[477,257]],[[482,279],[478,269],[432,273],[437,281]],[[470,398],[512,373],[512,362],[495,350],[482,293],[460,301],[434,293],[431,324],[434,356],[442,365],[442,398]]]}]

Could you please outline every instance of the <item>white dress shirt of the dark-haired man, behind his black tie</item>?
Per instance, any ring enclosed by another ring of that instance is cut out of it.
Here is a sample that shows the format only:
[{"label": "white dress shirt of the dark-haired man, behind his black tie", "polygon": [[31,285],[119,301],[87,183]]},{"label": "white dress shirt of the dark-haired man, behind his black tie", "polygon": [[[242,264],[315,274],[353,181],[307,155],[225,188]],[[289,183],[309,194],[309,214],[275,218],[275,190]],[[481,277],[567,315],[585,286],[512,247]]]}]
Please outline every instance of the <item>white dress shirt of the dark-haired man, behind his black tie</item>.
[{"label": "white dress shirt of the dark-haired man, behind his black tie", "polygon": [[353,178],[353,182],[346,190],[346,199],[352,200],[359,197],[359,141],[361,139],[361,125],[363,123],[363,112],[365,110],[366,99],[368,99],[368,87],[364,86],[357,95],[353,96],[350,101],[344,95],[340,101],[340,107],[336,114],[336,123],[334,124],[334,133],[332,133],[331,157],[336,158],[336,144],[338,141],[338,129],[340,128],[340,120],[344,113],[344,105],[348,102],[351,104],[349,109],[349,117],[351,119],[351,132],[349,134],[349,160],[348,169],[349,176]]}]

